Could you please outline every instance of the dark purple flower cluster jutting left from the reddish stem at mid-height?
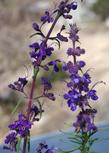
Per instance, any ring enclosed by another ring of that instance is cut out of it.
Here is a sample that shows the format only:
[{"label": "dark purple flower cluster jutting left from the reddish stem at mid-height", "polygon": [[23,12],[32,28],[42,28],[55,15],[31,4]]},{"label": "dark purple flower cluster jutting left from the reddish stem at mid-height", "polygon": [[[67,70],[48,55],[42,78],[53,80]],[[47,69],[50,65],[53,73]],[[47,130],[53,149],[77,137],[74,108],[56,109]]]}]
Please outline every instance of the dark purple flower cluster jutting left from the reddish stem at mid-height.
[{"label": "dark purple flower cluster jutting left from the reddish stem at mid-height", "polygon": [[24,87],[27,84],[27,78],[19,78],[18,81],[15,81],[13,84],[9,84],[8,87],[13,89],[13,90],[17,90],[20,92],[24,91]]}]

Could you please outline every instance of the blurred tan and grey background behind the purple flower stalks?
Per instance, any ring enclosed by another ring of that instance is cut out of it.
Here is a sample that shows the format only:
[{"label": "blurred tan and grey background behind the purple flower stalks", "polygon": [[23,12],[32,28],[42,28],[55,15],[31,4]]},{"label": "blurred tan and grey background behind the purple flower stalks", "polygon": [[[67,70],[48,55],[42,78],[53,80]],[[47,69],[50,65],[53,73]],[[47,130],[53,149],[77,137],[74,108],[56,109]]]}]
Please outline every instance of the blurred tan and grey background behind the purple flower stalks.
[{"label": "blurred tan and grey background behind the purple flower stalks", "polygon": [[[19,76],[30,78],[31,61],[28,45],[33,41],[29,38],[34,32],[32,22],[40,22],[44,10],[52,10],[57,2],[59,3],[59,0],[0,0],[0,142],[8,132],[8,124],[17,118],[19,112],[25,110],[26,99],[21,94],[8,89],[8,84],[16,81]],[[92,80],[94,83],[101,80],[106,82],[105,86],[101,84],[96,87],[100,99],[92,105],[98,109],[96,122],[107,122],[109,120],[109,0],[84,0],[82,4],[79,0],[78,2],[79,7],[77,11],[72,12],[73,20],[70,22],[77,22],[80,28],[80,45],[86,49],[86,54],[81,59],[87,62],[87,69],[91,68]],[[53,34],[63,23],[64,20],[61,19]],[[46,32],[49,26],[46,26]],[[37,40],[36,37],[33,39]],[[63,44],[58,51],[60,53],[56,52],[53,56],[68,60],[65,55],[66,49],[66,44]],[[67,108],[62,98],[66,87],[59,80],[63,77],[65,77],[63,74],[59,74],[54,78],[53,90],[57,95],[57,101],[45,100],[45,113],[41,121],[34,124],[32,135],[72,126],[76,113]],[[36,94],[40,93],[40,90],[41,87],[38,85]]]}]

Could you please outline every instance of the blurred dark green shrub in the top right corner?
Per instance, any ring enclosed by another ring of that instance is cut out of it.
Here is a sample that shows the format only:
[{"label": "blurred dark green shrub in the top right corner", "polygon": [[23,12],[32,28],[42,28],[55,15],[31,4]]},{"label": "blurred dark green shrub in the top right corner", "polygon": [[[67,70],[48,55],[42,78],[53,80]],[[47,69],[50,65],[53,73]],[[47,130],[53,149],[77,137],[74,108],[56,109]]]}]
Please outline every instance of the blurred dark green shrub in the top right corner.
[{"label": "blurred dark green shrub in the top right corner", "polygon": [[109,17],[109,0],[97,0],[91,9],[104,21]]}]

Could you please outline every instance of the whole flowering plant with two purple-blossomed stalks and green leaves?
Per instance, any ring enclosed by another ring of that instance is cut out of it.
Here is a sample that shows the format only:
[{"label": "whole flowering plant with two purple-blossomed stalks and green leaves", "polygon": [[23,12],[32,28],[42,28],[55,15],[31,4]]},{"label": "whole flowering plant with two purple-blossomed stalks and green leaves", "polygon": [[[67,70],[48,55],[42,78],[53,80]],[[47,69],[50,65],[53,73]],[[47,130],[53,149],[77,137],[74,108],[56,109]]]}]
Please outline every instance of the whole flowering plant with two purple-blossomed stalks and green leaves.
[{"label": "whole flowering plant with two purple-blossomed stalks and green leaves", "polygon": [[[40,70],[50,71],[52,69],[52,72],[54,73],[64,71],[67,74],[68,80],[64,80],[64,82],[68,91],[65,91],[63,98],[67,101],[67,105],[71,111],[79,110],[77,119],[72,124],[75,128],[75,132],[69,138],[71,142],[76,144],[76,147],[70,151],[63,151],[61,149],[57,150],[56,148],[49,148],[46,143],[41,142],[37,147],[36,152],[54,153],[58,151],[73,152],[78,150],[80,153],[94,153],[94,151],[91,151],[91,146],[97,141],[96,138],[93,138],[93,135],[97,132],[97,127],[94,123],[97,110],[91,106],[90,100],[98,100],[95,86],[98,83],[103,82],[100,81],[91,85],[92,81],[89,70],[85,72],[83,71],[86,63],[83,60],[77,59],[78,56],[85,54],[85,49],[79,46],[79,29],[75,23],[70,24],[67,36],[62,34],[62,32],[66,30],[65,25],[62,25],[60,31],[54,37],[51,36],[60,17],[63,17],[65,20],[71,20],[72,15],[70,12],[76,10],[77,6],[76,1],[63,0],[52,13],[49,11],[45,12],[44,16],[41,17],[40,25],[36,22],[32,25],[35,33],[31,35],[31,37],[38,35],[41,39],[29,45],[31,50],[29,55],[33,68],[30,93],[27,94],[25,92],[25,86],[28,84],[27,77],[19,77],[17,81],[9,84],[9,88],[24,94],[28,102],[26,112],[19,114],[18,119],[9,125],[10,133],[6,136],[5,144],[7,144],[12,151],[19,153],[22,142],[22,153],[30,152],[31,127],[34,122],[40,121],[42,114],[44,113],[43,102],[41,99],[47,98],[51,101],[56,100],[55,94],[51,92],[52,84],[49,76],[40,78],[43,91],[41,95],[34,96],[37,76],[40,73]],[[51,27],[46,35],[42,31],[42,27],[47,23],[51,23]],[[50,59],[49,57],[55,51],[53,43],[50,45],[50,41],[58,44],[58,47],[60,47],[61,43],[68,43],[68,41],[71,41],[72,46],[67,49],[67,55],[70,56],[72,60],[64,62],[63,60],[55,59],[46,62],[46,59]],[[59,68],[60,63],[62,64],[61,70]],[[34,100],[36,103],[34,103]]]}]

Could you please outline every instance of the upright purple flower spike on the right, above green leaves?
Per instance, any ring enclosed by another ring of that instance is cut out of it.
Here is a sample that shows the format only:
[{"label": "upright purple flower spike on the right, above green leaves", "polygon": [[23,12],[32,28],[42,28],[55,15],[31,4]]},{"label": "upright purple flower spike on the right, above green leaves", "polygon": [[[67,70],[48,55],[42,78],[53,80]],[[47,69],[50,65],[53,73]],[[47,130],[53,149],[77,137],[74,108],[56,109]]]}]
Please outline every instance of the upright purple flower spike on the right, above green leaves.
[{"label": "upright purple flower spike on the right, above green leaves", "polygon": [[[71,9],[71,4],[68,4],[67,7]],[[72,3],[72,7],[75,10],[76,3]],[[73,47],[67,49],[67,55],[73,56],[73,62],[68,61],[63,65],[63,70],[69,72],[69,80],[66,82],[69,90],[63,97],[72,111],[77,108],[81,110],[77,116],[77,121],[73,124],[76,131],[95,132],[97,128],[93,121],[97,111],[91,108],[89,100],[96,101],[98,96],[96,95],[96,90],[90,89],[92,81],[88,71],[84,73],[82,70],[86,63],[82,60],[77,60],[78,56],[85,53],[84,49],[76,46],[76,43],[79,42],[78,32],[76,24],[70,25],[69,38]]]}]

